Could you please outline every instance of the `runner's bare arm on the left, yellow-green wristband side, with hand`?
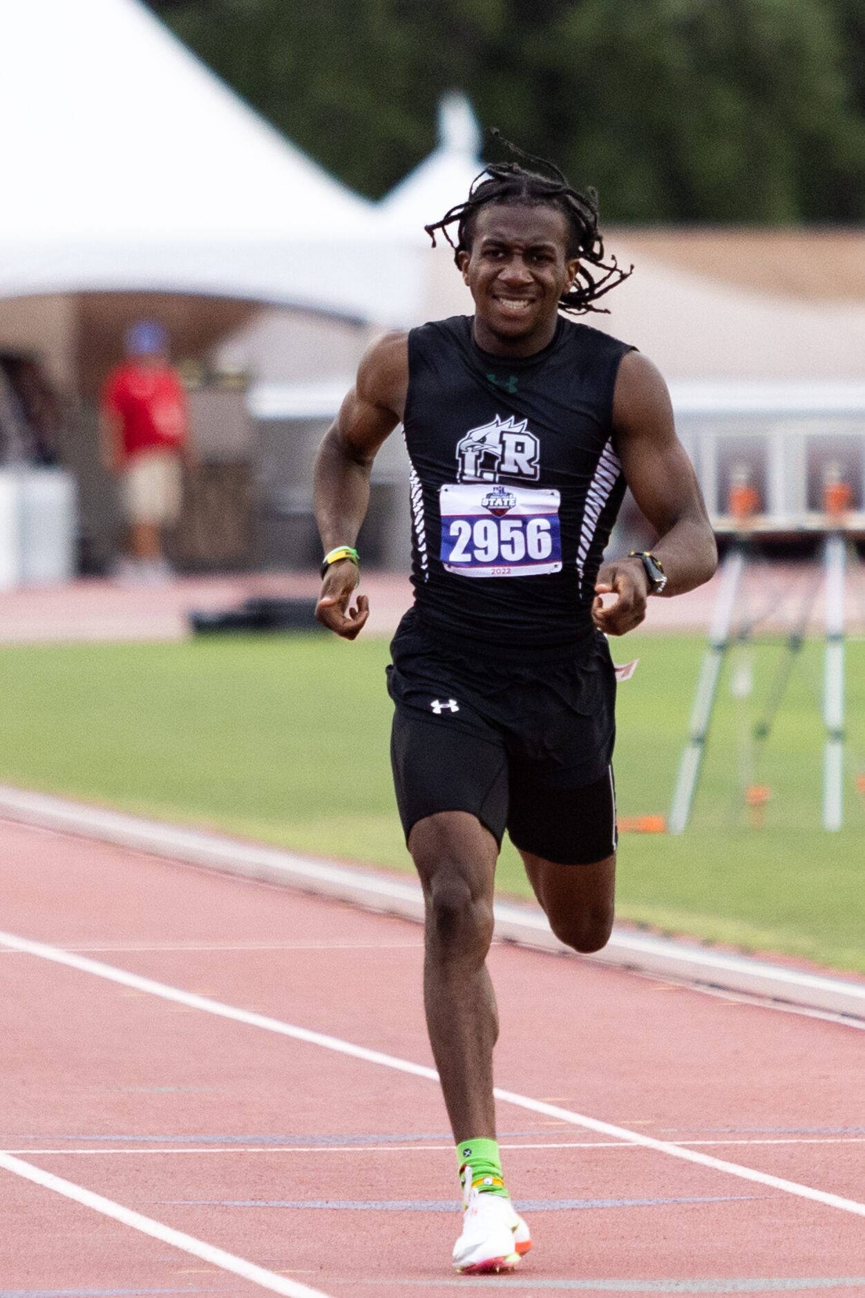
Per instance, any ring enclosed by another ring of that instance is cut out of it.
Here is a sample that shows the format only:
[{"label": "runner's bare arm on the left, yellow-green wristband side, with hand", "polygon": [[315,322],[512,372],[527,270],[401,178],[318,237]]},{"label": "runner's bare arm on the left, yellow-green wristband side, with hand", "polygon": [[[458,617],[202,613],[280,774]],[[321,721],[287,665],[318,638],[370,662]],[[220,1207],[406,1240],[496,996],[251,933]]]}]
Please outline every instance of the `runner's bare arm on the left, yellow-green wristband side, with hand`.
[{"label": "runner's bare arm on the left, yellow-green wristband side, with hand", "polygon": [[[385,334],[363,356],[355,384],[315,457],[315,520],[326,554],[357,540],[370,504],[372,461],[402,419],[407,388],[407,335]],[[350,559],[332,563],[315,609],[318,620],[345,640],[354,640],[370,615],[364,594],[349,607],[355,582]]]}]

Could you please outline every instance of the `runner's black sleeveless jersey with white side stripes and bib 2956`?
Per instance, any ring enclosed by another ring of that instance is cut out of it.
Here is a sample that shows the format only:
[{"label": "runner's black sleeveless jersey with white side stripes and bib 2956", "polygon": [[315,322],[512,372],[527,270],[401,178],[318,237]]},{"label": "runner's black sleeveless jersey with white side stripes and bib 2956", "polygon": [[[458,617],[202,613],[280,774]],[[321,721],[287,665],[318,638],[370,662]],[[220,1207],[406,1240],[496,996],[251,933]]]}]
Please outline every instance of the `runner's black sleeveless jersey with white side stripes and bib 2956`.
[{"label": "runner's black sleeveless jersey with white side stripes and bib 2956", "polygon": [[520,360],[482,352],[469,315],[411,330],[411,579],[436,639],[564,648],[591,628],[625,492],[612,397],[629,350],[562,317]]}]

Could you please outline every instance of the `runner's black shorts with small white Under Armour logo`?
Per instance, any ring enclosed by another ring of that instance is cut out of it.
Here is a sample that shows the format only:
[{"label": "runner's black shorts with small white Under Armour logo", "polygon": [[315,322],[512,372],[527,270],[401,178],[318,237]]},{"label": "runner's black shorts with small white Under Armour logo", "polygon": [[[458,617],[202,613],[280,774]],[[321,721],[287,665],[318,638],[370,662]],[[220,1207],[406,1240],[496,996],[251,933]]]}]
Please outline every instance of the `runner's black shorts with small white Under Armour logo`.
[{"label": "runner's black shorts with small white Under Armour logo", "polygon": [[507,828],[546,861],[589,864],[615,851],[616,676],[600,632],[565,659],[502,662],[431,640],[411,610],[390,652],[406,840],[424,816],[468,811],[499,845]]}]

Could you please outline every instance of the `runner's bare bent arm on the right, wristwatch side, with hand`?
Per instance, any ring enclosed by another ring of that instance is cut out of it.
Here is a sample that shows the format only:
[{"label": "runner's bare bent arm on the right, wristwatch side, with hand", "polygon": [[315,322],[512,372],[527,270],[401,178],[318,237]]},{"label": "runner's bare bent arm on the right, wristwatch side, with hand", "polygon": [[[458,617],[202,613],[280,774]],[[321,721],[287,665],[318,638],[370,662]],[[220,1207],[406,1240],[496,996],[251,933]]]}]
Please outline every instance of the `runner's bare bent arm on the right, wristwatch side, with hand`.
[{"label": "runner's bare bent arm on the right, wristwatch side, with hand", "polygon": [[[664,567],[664,594],[702,585],[717,567],[715,533],[694,466],[676,436],[667,384],[641,352],[619,366],[613,395],[613,439],[625,480],[641,511],[659,533],[652,554]],[[603,594],[617,598],[602,606]],[[621,636],[646,617],[648,579],[642,561],[604,563],[595,584],[593,618],[608,635]]]}]

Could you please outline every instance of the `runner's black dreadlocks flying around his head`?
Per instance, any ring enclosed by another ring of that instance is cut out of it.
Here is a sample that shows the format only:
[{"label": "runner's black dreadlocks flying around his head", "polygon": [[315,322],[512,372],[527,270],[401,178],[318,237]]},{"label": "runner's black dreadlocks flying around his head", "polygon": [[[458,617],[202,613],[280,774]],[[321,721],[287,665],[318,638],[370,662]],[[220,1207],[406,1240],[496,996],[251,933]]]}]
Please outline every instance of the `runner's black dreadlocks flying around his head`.
[{"label": "runner's black dreadlocks flying around his head", "polygon": [[[524,153],[516,144],[506,140],[499,131],[493,129],[497,136],[512,153],[532,162],[536,166],[547,167],[552,175],[539,175],[529,171],[519,162],[490,162],[480,175],[472,180],[468,199],[458,202],[445,213],[441,221],[434,221],[424,226],[427,234],[436,247],[436,230],[441,230],[445,239],[454,249],[454,261],[459,265],[459,254],[471,249],[475,221],[481,208],[493,204],[523,202],[529,206],[550,205],[564,213],[571,231],[568,239],[568,257],[580,258],[580,270],[569,292],[559,299],[562,310],[573,315],[584,312],[606,312],[603,306],[594,306],[598,297],[603,297],[611,288],[628,279],[633,271],[622,270],[613,256],[604,261],[603,239],[598,231],[598,193],[595,190],[586,190],[578,193],[569,184],[564,174],[554,162]],[[456,225],[456,243],[451,239],[449,226]],[[593,274],[591,267],[600,274]],[[582,280],[582,283],[580,283]]]}]

